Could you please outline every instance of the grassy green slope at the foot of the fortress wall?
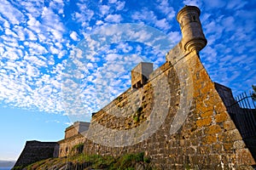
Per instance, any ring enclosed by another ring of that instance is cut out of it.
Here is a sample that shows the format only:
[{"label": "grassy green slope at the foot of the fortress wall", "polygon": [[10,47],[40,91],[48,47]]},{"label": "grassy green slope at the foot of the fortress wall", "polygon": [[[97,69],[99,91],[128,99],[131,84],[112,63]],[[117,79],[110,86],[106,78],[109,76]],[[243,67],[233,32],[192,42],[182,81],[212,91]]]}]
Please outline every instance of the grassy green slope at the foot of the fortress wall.
[{"label": "grassy green slope at the foot of the fortress wall", "polygon": [[59,169],[64,167],[67,162],[72,162],[73,165],[88,163],[88,169],[132,170],[136,169],[137,164],[146,167],[146,169],[152,169],[149,165],[150,159],[144,156],[143,152],[137,154],[126,154],[119,157],[78,154],[70,157],[50,158],[33,163],[32,165],[27,166],[26,169]]}]

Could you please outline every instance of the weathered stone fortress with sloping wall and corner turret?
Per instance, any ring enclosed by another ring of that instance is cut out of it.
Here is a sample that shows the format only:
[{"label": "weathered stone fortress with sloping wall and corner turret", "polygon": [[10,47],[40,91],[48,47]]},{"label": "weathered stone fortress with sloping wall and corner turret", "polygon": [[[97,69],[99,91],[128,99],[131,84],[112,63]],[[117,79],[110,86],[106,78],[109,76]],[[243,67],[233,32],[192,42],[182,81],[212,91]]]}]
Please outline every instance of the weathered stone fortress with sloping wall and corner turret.
[{"label": "weathered stone fortress with sloping wall and corner turret", "polygon": [[[200,14],[194,6],[178,12],[183,38],[166,54],[164,65],[153,71],[151,63],[138,64],[131,71],[131,88],[94,113],[90,123],[75,122],[54,144],[27,142],[15,166],[31,163],[25,157],[38,147],[44,155],[40,160],[69,156],[79,145],[85,154],[143,151],[164,169],[252,169],[253,156],[224,105],[232,99],[230,88],[212,82],[201,64],[199,52],[207,39]],[[222,96],[225,90],[230,96]]]}]

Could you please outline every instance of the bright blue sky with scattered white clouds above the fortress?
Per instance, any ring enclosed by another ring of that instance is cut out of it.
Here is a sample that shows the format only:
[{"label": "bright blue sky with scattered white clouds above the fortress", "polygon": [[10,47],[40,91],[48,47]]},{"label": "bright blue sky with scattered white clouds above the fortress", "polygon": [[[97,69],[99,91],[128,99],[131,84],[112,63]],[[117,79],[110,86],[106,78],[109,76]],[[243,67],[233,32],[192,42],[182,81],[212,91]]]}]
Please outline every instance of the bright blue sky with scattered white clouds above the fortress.
[{"label": "bright blue sky with scattered white clouds above the fortress", "polygon": [[208,41],[201,61],[212,80],[235,95],[251,89],[253,0],[3,0],[0,160],[16,160],[26,140],[57,141],[71,122],[90,121],[131,86],[130,71],[140,61],[163,64],[181,39],[175,17],[185,4],[201,8]]}]

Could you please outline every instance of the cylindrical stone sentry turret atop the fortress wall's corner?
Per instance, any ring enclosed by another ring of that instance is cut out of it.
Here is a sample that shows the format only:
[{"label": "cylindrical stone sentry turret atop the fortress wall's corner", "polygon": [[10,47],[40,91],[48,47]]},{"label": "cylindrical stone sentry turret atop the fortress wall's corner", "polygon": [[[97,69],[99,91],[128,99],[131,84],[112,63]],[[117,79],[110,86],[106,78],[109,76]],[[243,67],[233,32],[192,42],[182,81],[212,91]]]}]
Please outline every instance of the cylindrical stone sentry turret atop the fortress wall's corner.
[{"label": "cylindrical stone sentry turret atop the fortress wall's corner", "polygon": [[200,14],[200,9],[195,6],[185,6],[177,14],[183,34],[182,45],[186,51],[199,52],[207,45],[207,39],[201,29]]}]

